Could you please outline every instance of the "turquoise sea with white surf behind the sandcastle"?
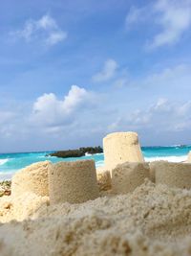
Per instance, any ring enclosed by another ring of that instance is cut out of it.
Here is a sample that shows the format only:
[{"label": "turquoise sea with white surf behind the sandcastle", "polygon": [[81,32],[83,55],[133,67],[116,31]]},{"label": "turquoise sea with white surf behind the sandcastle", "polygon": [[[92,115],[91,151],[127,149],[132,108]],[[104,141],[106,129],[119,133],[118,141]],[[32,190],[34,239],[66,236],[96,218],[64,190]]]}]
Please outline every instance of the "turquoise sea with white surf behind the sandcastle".
[{"label": "turquoise sea with white surf behind the sandcastle", "polygon": [[[191,151],[191,145],[174,145],[166,147],[142,147],[145,161],[167,160],[169,162],[182,162],[187,159]],[[0,153],[0,180],[10,179],[18,170],[31,165],[32,163],[49,160],[53,163],[60,161],[75,161],[81,159],[94,159],[96,167],[104,165],[104,154],[86,154],[82,157],[58,158],[50,156],[53,151],[36,152],[12,152]]]}]

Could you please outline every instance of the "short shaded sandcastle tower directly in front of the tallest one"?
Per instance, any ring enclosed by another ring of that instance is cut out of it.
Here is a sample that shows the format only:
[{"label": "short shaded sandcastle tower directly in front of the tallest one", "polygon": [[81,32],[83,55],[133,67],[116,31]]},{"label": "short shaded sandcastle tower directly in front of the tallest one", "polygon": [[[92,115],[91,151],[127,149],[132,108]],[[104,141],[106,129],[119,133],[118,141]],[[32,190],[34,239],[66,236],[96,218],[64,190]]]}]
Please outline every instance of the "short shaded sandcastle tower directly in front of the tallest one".
[{"label": "short shaded sandcastle tower directly in front of the tallest one", "polygon": [[134,191],[150,177],[148,163],[124,163],[117,165],[112,171],[112,188],[116,194],[125,194]]}]

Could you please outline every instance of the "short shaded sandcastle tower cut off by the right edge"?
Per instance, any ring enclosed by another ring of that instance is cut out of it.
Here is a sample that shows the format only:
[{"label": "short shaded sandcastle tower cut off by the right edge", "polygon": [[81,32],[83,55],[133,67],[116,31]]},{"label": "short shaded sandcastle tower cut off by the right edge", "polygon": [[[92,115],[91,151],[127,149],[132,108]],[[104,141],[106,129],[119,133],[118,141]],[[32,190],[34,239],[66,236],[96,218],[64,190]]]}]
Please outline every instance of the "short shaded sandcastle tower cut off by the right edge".
[{"label": "short shaded sandcastle tower cut off by the right edge", "polygon": [[156,184],[162,183],[170,187],[191,189],[191,163],[156,162],[152,166]]}]

